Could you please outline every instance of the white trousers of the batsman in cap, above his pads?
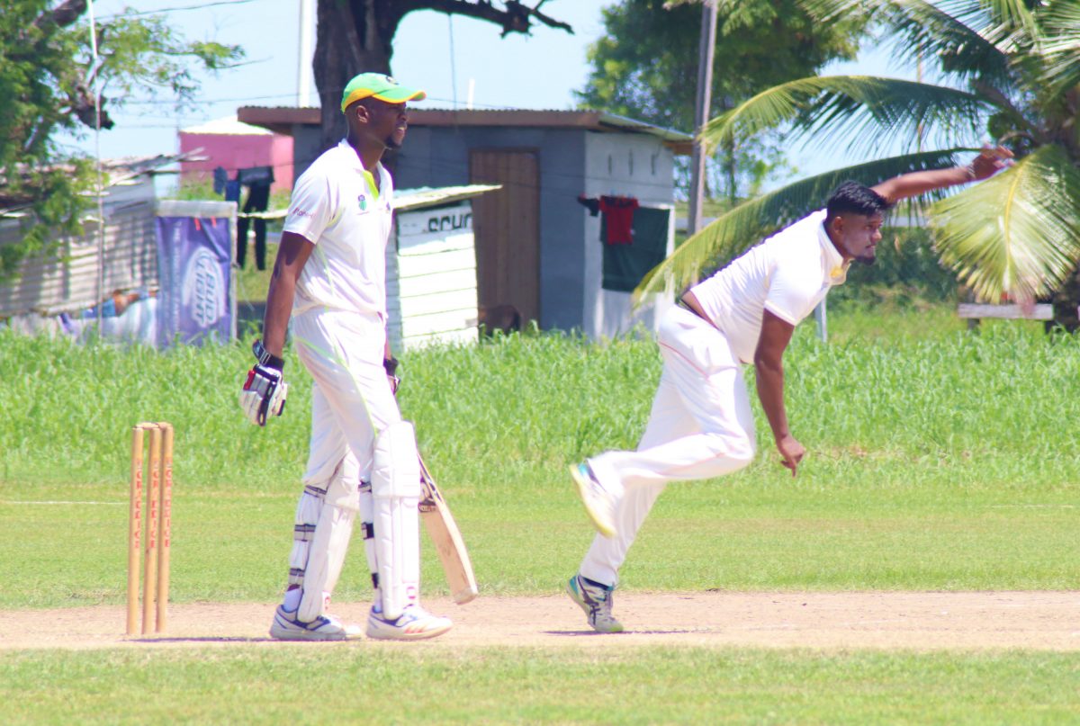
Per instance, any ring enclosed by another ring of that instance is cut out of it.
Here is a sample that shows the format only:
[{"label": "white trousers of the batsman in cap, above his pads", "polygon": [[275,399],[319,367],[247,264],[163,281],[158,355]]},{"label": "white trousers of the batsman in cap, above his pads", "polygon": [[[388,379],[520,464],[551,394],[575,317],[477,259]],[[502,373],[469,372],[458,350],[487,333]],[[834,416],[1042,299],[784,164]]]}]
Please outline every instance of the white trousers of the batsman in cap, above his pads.
[{"label": "white trousers of the batsman in cap, above his pads", "polygon": [[325,483],[347,456],[372,481],[375,436],[402,420],[382,357],[387,330],[377,314],[314,309],[293,319],[293,337],[311,373],[311,448],[305,484]]}]

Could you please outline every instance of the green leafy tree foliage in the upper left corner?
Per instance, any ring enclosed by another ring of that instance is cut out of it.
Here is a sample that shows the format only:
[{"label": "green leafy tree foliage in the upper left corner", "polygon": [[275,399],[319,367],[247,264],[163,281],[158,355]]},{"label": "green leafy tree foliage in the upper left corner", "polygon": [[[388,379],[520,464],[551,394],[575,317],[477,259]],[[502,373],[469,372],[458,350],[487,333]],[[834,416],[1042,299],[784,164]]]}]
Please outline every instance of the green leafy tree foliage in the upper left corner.
[{"label": "green leafy tree foliage in the upper left corner", "polygon": [[[58,132],[84,135],[109,108],[133,93],[167,94],[177,104],[198,91],[194,67],[218,70],[243,56],[238,46],[188,42],[164,18],[124,14],[97,24],[98,59],[91,53],[85,8],[51,0],[14,0],[0,13],[0,209],[28,207],[24,242],[0,254],[0,274],[25,255],[48,250],[57,232],[77,232],[93,202],[96,177],[85,158],[55,143]],[[95,86],[102,112],[95,110]],[[106,132],[107,133],[107,132]]]}]

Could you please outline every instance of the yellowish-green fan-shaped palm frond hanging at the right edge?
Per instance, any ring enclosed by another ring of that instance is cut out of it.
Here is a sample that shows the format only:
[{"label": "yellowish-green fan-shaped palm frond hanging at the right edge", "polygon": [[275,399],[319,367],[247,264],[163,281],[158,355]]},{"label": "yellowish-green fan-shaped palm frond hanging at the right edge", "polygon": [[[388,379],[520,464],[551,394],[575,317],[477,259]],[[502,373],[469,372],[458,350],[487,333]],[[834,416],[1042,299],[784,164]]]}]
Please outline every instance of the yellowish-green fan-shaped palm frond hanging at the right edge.
[{"label": "yellowish-green fan-shaped palm frond hanging at the right edge", "polygon": [[1080,171],[1044,146],[930,209],[942,261],[977,297],[1040,297],[1080,259]]}]

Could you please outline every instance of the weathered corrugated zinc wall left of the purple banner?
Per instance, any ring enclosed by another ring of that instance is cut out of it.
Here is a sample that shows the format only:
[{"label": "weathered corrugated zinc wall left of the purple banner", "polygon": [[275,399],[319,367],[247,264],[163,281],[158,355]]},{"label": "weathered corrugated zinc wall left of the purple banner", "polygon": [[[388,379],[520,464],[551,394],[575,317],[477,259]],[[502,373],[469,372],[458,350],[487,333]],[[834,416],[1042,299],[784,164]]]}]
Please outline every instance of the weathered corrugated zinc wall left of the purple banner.
[{"label": "weathered corrugated zinc wall left of the purple banner", "polygon": [[[114,290],[158,286],[152,198],[106,204],[105,281],[98,283],[98,226],[60,240],[58,254],[32,255],[16,274],[0,281],[0,318],[39,312],[53,315],[97,305]],[[19,220],[0,221],[0,246],[23,239]]]}]

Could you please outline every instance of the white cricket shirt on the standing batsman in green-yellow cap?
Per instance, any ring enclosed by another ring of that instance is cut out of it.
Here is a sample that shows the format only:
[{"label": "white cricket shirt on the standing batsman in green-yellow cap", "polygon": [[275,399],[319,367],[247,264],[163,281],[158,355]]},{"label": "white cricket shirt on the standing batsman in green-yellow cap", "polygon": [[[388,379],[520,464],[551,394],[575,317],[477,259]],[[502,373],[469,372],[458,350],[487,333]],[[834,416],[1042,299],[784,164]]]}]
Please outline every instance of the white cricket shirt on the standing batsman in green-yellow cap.
[{"label": "white cricket shirt on the standing batsman in green-yellow cap", "polygon": [[315,307],[387,317],[387,242],[393,180],[376,165],[379,186],[347,139],[297,179],[284,230],[315,245],[297,281],[293,313]]}]

